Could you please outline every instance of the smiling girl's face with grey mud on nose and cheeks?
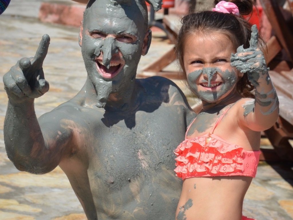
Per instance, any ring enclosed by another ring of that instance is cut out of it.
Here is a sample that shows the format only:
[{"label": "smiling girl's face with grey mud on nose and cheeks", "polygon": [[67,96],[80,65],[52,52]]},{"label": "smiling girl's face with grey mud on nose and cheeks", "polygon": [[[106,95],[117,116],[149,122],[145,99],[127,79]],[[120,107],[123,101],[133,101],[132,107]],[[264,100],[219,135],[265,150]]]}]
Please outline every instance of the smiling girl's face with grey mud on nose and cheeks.
[{"label": "smiling girl's face with grey mud on nose and cheeks", "polygon": [[202,101],[224,101],[235,93],[239,73],[230,65],[231,40],[219,32],[197,32],[186,38],[183,51],[187,82]]}]

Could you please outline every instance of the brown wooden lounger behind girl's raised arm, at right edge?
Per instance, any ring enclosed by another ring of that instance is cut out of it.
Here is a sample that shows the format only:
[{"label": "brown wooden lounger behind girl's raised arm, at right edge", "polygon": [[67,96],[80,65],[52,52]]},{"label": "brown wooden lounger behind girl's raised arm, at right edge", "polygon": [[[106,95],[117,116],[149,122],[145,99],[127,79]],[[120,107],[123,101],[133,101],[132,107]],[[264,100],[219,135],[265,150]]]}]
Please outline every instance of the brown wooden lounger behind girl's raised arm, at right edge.
[{"label": "brown wooden lounger behind girl's raised arm, at right edge", "polygon": [[282,160],[293,161],[293,148],[289,143],[293,139],[293,26],[289,23],[292,12],[286,20],[277,0],[260,2],[272,26],[273,35],[267,42],[266,61],[280,101],[280,116],[275,125],[264,133]]}]

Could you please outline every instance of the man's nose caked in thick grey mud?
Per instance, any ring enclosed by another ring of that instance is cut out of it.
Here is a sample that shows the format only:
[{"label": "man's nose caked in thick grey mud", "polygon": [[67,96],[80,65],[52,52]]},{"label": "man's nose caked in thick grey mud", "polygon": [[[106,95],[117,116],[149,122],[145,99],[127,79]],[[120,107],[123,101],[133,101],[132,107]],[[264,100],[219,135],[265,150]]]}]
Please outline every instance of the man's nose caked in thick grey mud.
[{"label": "man's nose caked in thick grey mud", "polygon": [[105,38],[102,51],[103,51],[103,64],[105,67],[107,67],[107,69],[109,69],[112,56],[118,53],[115,39],[112,37]]}]

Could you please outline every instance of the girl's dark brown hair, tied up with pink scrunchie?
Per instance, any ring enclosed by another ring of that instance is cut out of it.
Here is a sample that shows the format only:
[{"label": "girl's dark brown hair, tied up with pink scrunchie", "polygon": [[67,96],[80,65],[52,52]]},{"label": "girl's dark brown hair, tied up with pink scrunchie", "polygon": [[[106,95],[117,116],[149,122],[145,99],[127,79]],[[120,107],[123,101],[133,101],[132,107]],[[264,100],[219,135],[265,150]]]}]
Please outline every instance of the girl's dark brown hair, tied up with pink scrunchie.
[{"label": "girl's dark brown hair, tied up with pink scrunchie", "polygon": [[[214,5],[219,1],[220,0],[215,0]],[[187,76],[183,62],[184,46],[187,38],[193,33],[200,32],[208,35],[211,32],[218,32],[225,34],[231,40],[235,51],[241,45],[243,45],[244,48],[249,47],[251,24],[248,23],[243,16],[248,15],[249,17],[249,15],[251,15],[255,3],[253,0],[230,0],[229,2],[236,4],[240,16],[217,11],[200,11],[188,14],[182,18],[182,26],[176,44],[176,55],[181,69],[180,75],[185,79],[185,82]],[[263,50],[264,41],[260,38],[258,42],[260,49]],[[242,97],[253,97],[251,94],[253,86],[248,81],[247,74],[244,74],[243,77],[239,79],[236,90]]]}]

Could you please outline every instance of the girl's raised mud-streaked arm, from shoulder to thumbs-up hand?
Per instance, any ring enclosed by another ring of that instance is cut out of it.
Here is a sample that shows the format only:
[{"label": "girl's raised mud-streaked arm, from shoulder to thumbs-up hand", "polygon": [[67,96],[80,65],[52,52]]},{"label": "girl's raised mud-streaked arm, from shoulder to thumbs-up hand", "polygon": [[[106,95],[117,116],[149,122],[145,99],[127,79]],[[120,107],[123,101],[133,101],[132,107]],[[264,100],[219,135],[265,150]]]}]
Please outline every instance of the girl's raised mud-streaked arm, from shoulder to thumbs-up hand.
[{"label": "girl's raised mud-streaked arm, from shoulder to thumbs-up hand", "polygon": [[245,99],[239,111],[239,122],[253,131],[270,128],[279,115],[279,101],[270,79],[263,53],[258,48],[258,30],[251,28],[250,47],[240,46],[231,56],[231,66],[246,73],[255,89],[255,99]]}]

